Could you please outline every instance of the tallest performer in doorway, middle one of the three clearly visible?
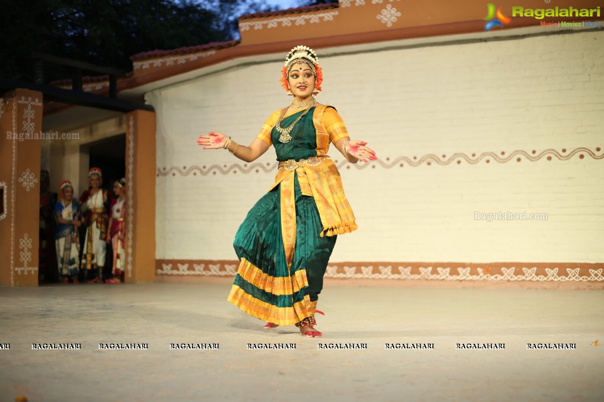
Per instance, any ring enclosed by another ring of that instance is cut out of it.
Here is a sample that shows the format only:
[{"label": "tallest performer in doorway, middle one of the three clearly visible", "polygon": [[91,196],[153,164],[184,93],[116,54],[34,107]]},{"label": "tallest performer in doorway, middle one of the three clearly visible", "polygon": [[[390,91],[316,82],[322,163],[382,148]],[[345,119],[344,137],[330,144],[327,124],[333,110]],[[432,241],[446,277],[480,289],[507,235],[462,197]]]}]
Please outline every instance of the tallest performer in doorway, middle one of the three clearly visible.
[{"label": "tallest performer in doorway, middle one of the three clearly visible", "polygon": [[[82,268],[92,272],[94,278],[88,283],[103,282],[103,267],[107,248],[107,190],[101,189],[103,173],[99,168],[88,171],[88,185],[91,187],[82,193],[80,204],[86,213],[86,237],[82,254]],[[87,274],[88,277],[88,274]]]}]

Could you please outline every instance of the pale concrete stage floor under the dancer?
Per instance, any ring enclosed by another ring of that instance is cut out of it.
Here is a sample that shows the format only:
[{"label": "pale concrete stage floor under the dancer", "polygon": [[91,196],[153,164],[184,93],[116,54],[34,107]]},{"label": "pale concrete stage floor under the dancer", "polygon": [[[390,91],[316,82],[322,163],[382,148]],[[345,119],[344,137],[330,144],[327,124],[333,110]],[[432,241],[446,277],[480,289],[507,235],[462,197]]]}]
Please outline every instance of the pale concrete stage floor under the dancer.
[{"label": "pale concrete stage floor under the dancer", "polygon": [[[226,302],[228,284],[0,287],[0,401],[604,401],[604,293],[327,287],[324,338]],[[599,340],[602,346],[593,346]],[[33,343],[82,350],[31,350]],[[135,342],[149,350],[98,350]],[[219,350],[169,350],[170,343]],[[248,343],[295,350],[246,350]],[[317,350],[318,343],[367,350]],[[504,350],[456,350],[457,343]],[[434,350],[385,350],[434,343]],[[527,350],[573,343],[576,350]]]}]

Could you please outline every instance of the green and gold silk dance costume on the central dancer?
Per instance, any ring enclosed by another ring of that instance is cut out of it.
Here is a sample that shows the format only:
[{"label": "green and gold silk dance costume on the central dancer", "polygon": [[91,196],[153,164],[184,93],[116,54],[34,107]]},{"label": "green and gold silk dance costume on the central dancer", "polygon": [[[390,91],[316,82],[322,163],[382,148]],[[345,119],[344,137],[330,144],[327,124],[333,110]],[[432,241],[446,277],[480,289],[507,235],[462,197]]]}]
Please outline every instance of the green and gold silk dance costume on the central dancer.
[{"label": "green and gold silk dance costume on the central dancer", "polygon": [[[275,183],[249,211],[233,247],[240,265],[228,301],[256,318],[294,325],[312,316],[338,234],[356,229],[329,143],[349,134],[334,108],[312,107],[281,143],[274,128],[281,110],[259,137],[275,146]],[[287,116],[288,127],[303,113]]]}]

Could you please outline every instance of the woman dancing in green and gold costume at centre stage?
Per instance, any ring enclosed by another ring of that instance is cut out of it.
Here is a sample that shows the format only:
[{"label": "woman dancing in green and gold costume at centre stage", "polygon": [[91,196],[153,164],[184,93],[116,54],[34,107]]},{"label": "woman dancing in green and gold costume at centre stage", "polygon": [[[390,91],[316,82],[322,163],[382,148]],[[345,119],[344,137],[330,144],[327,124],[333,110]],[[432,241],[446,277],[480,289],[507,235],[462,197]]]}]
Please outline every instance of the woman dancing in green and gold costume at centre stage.
[{"label": "woman dancing in green and gold costume at centre stage", "polygon": [[228,301],[268,321],[265,328],[295,324],[303,336],[315,338],[322,335],[313,328],[316,302],[336,236],[356,229],[338,169],[326,155],[329,143],[352,163],[377,158],[366,142],[350,140],[335,108],[313,98],[323,74],[312,49],[292,49],[281,73],[294,101],[272,113],[251,145],[222,133],[199,136],[198,144],[228,149],[245,162],[275,146],[275,183],[235,236],[240,264]]}]

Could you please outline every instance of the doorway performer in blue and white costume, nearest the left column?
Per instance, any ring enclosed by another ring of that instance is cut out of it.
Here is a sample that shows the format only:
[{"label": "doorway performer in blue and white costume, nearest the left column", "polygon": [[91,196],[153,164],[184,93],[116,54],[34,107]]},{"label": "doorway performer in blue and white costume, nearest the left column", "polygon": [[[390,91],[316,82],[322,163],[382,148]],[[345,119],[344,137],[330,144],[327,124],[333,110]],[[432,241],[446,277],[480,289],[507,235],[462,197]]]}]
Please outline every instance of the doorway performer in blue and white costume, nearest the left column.
[{"label": "doorway performer in blue and white costume, nearest the left column", "polygon": [[80,204],[74,198],[74,186],[69,180],[63,180],[59,187],[60,200],[54,206],[57,231],[54,245],[57,250],[57,265],[61,283],[79,283],[80,272]]}]

